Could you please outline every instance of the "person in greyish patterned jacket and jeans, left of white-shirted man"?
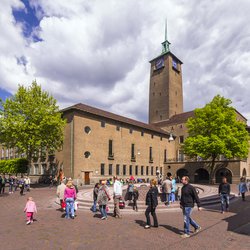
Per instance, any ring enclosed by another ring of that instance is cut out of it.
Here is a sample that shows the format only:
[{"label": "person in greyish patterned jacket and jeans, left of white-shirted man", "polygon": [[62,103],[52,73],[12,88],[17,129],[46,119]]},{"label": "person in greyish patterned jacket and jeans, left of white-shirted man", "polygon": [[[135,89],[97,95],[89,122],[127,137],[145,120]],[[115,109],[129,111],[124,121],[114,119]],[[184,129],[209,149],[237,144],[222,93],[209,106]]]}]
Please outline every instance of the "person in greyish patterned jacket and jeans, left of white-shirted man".
[{"label": "person in greyish patterned jacket and jeans, left of white-shirted man", "polygon": [[109,195],[109,190],[106,185],[106,181],[103,180],[101,182],[101,186],[98,191],[98,196],[97,196],[97,203],[99,204],[100,212],[101,212],[101,219],[102,220],[107,220],[107,204],[108,201],[110,200],[110,195]]}]

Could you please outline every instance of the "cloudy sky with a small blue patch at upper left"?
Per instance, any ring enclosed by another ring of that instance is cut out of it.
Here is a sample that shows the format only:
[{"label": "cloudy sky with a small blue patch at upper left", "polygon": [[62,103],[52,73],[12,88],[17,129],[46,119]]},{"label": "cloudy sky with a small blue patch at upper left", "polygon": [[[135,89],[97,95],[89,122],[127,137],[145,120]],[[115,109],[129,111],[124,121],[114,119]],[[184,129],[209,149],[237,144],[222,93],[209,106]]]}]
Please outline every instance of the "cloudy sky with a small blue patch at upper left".
[{"label": "cloudy sky with a small blue patch at upper left", "polygon": [[148,121],[149,61],[184,64],[184,111],[220,94],[250,120],[248,0],[0,0],[0,98],[36,80],[60,108]]}]

